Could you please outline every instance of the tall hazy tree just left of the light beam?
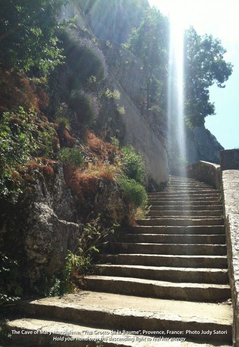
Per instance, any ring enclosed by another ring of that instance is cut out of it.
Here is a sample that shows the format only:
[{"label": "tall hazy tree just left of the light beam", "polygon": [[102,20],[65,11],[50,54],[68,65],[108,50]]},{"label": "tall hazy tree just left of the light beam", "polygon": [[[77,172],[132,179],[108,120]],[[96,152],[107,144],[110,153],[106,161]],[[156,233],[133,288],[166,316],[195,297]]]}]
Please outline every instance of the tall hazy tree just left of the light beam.
[{"label": "tall hazy tree just left of the light beam", "polygon": [[160,101],[160,106],[166,100],[166,88],[163,87],[167,80],[168,40],[168,19],[152,7],[145,11],[140,26],[132,30],[128,41],[123,45],[141,58],[147,76],[146,86],[151,91],[151,101]]}]

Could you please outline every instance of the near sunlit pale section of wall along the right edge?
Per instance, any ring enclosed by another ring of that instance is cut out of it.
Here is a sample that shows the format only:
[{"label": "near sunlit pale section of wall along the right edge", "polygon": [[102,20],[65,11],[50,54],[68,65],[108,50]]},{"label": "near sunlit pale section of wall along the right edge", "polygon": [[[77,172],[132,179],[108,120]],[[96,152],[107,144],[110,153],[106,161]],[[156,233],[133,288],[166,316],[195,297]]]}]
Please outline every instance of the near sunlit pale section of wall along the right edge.
[{"label": "near sunlit pale section of wall along the right edge", "polygon": [[239,170],[222,171],[229,282],[233,303],[233,346],[239,346]]}]

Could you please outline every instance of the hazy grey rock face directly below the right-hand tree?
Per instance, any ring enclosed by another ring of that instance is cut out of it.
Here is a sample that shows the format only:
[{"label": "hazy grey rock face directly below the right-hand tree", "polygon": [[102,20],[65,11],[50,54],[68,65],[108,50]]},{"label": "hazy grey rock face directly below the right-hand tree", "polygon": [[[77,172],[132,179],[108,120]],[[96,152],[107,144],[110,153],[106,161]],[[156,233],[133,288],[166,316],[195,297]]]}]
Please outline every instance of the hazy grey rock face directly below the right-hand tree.
[{"label": "hazy grey rock face directly below the right-hand tree", "polygon": [[205,126],[196,126],[193,136],[186,139],[187,156],[190,164],[198,160],[205,160],[218,164],[220,162],[220,150],[224,149]]}]

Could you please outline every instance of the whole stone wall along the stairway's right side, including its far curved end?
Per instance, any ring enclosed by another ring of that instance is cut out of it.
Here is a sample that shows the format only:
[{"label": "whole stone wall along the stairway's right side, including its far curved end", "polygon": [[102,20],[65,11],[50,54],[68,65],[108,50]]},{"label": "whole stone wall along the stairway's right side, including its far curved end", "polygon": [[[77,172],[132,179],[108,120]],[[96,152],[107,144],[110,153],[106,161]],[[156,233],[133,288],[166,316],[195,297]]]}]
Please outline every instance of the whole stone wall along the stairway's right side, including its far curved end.
[{"label": "whole stone wall along the stairway's right side, including its far curved end", "polygon": [[221,166],[198,161],[175,172],[222,190],[228,275],[233,303],[233,346],[239,346],[239,150],[220,151]]}]

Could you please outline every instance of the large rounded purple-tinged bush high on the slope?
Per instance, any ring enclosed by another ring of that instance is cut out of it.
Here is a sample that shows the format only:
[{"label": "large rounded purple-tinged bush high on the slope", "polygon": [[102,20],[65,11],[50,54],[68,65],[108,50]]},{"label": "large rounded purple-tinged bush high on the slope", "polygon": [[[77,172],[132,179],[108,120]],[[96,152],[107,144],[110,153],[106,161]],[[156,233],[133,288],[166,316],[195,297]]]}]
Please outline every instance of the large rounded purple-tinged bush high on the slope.
[{"label": "large rounded purple-tinged bush high on the slope", "polygon": [[[77,36],[73,31],[65,30],[60,38],[64,42],[67,64],[72,70],[72,82],[87,83],[91,76],[99,82],[105,78],[107,68],[102,51],[89,39]],[[78,79],[78,81],[77,81]]]}]

